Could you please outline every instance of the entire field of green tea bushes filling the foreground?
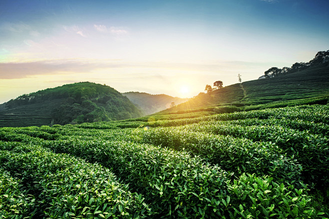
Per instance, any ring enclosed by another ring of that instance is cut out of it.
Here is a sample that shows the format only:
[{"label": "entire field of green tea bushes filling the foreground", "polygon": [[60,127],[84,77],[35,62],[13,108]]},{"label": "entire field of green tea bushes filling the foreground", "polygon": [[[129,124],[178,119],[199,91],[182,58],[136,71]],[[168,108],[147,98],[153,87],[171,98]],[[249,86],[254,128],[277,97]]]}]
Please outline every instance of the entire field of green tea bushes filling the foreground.
[{"label": "entire field of green tea bushes filling the foreground", "polygon": [[0,219],[328,218],[328,112],[3,127]]}]

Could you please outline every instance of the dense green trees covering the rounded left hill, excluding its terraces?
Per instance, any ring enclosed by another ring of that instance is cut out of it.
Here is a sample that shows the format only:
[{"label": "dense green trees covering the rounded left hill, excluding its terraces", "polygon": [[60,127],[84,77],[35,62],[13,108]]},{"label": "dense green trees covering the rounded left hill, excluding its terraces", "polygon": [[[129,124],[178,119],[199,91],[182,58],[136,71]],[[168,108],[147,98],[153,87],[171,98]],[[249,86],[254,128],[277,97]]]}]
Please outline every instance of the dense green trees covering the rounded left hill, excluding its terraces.
[{"label": "dense green trees covering the rounded left hill, excluding its terraces", "polygon": [[80,82],[24,94],[6,103],[13,108],[25,104],[62,99],[61,105],[51,113],[53,124],[80,124],[130,119],[142,116],[127,97],[115,89],[101,84]]}]

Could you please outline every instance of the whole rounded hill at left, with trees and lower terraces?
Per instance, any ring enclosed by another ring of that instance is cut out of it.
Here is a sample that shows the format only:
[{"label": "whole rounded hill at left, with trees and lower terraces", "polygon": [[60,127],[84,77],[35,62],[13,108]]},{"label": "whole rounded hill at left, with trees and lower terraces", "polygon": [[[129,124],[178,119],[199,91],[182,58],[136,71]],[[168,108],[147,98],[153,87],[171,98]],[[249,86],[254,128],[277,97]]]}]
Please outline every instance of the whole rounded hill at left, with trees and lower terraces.
[{"label": "whole rounded hill at left, with trees and lower terraces", "polygon": [[90,82],[24,94],[4,105],[5,108],[0,111],[0,126],[15,126],[11,124],[15,123],[15,119],[19,126],[39,126],[122,120],[142,115],[127,97],[115,89]]}]

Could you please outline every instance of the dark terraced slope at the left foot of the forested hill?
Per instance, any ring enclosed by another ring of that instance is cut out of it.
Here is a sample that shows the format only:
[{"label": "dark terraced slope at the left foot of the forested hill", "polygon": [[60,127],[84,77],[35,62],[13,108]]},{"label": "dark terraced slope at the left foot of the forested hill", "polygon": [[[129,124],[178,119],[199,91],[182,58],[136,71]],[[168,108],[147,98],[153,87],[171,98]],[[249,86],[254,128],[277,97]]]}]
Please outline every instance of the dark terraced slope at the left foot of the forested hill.
[{"label": "dark terraced slope at the left foot of the forested hill", "polygon": [[51,125],[51,111],[65,99],[22,105],[0,111],[0,127],[27,127]]}]

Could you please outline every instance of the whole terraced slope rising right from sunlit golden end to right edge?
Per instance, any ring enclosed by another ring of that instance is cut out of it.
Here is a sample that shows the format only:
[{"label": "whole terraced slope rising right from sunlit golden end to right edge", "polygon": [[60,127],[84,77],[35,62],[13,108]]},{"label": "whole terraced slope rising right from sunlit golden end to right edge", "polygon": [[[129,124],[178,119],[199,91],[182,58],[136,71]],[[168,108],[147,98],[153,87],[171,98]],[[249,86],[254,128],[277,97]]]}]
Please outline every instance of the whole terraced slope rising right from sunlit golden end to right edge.
[{"label": "whole terraced slope rising right from sunlit golden end to right edge", "polygon": [[[231,112],[248,108],[256,109],[254,106],[259,104],[281,106],[279,103],[282,101],[327,96],[328,87],[329,67],[320,65],[287,75],[232,84],[210,93],[200,93],[193,99],[156,115],[198,111]],[[284,103],[289,104],[289,102]]]}]

